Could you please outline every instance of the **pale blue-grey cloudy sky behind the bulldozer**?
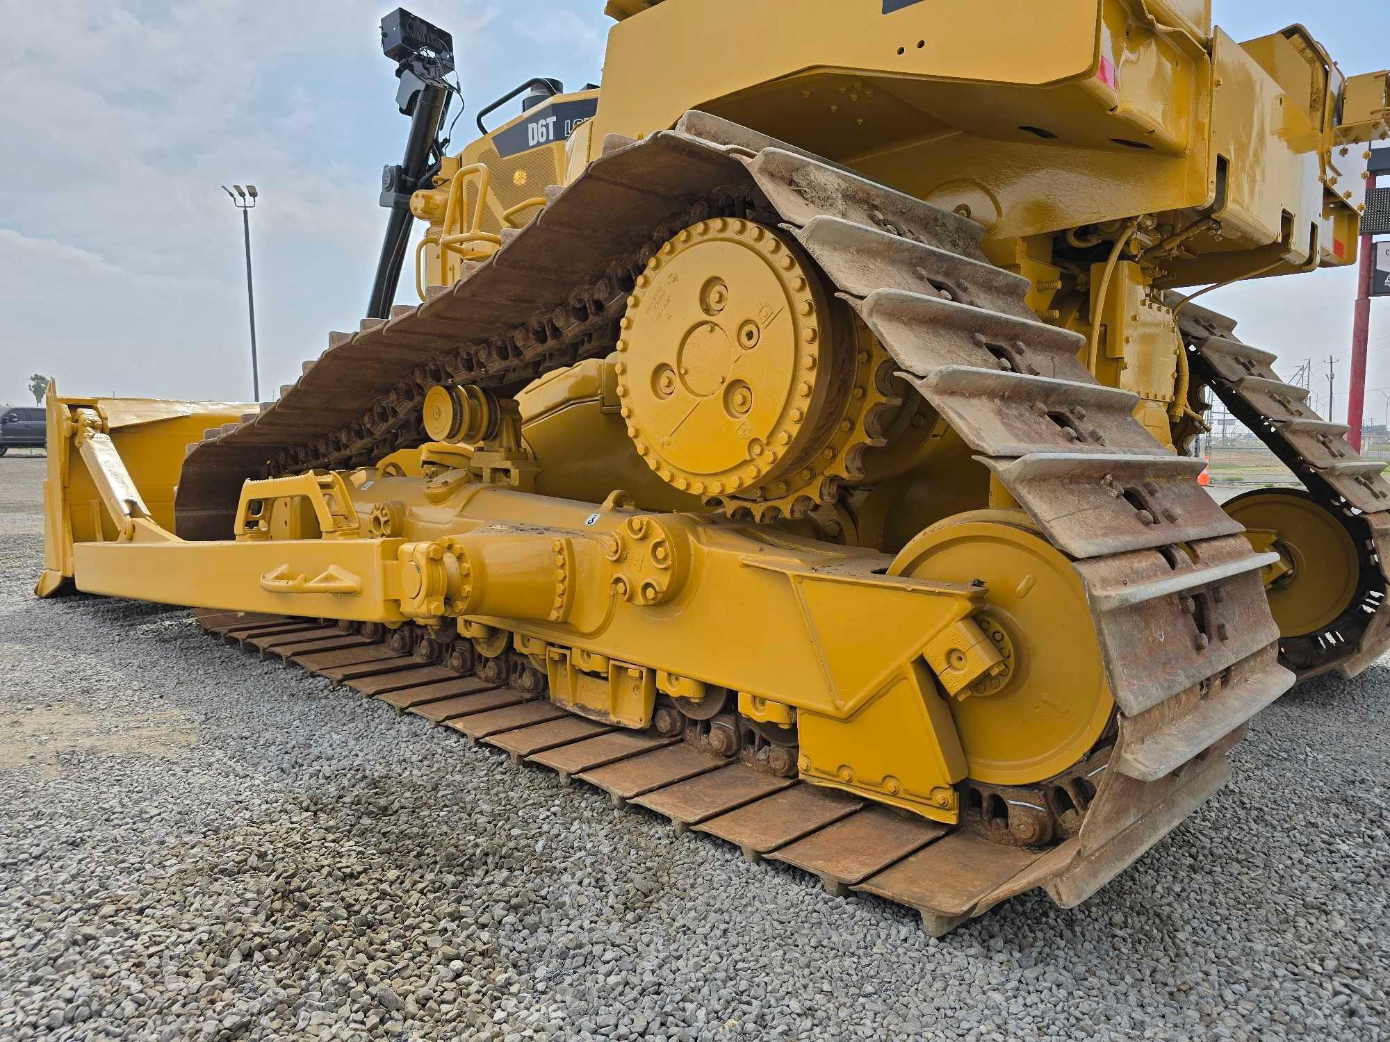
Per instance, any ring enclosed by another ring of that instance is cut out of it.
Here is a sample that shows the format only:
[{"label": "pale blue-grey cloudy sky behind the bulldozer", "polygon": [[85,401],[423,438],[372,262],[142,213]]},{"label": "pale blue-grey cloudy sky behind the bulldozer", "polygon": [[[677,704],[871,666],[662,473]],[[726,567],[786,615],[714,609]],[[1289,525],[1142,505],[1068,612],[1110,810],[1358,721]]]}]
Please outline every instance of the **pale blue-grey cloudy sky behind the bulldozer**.
[{"label": "pale blue-grey cloudy sky behind the bulldozer", "polygon": [[[28,400],[36,370],[67,393],[249,399],[240,218],[224,183],[263,193],[263,397],[329,329],[356,328],[385,221],[381,165],[399,161],[407,126],[377,31],[391,1],[0,0],[0,402]],[[468,103],[456,144],[532,75],[599,79],[603,0],[409,7],[453,33]],[[1216,0],[1216,18],[1237,39],[1302,21],[1348,74],[1390,65],[1386,0]],[[1277,352],[1280,372],[1320,358],[1323,393],[1337,356],[1341,418],[1354,281],[1319,272],[1205,300]],[[1390,390],[1390,301],[1371,339],[1368,386]],[[1384,404],[1369,395],[1369,415]]]}]

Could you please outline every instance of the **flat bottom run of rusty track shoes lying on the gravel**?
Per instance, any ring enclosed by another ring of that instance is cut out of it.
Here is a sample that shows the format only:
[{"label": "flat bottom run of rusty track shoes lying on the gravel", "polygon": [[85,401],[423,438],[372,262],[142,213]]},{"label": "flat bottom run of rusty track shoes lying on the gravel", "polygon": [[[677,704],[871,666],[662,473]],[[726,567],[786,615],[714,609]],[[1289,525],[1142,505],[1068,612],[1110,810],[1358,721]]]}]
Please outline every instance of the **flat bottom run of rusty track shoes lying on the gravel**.
[{"label": "flat bottom run of rusty track shoes lying on the gravel", "polygon": [[[461,675],[403,653],[399,642],[393,647],[370,625],[206,610],[197,615],[203,629],[225,643],[325,677],[384,702],[398,716],[418,716],[473,743],[502,749],[513,763],[552,770],[564,784],[592,785],[616,806],[653,810],[681,832],[724,839],[749,861],[791,864],[819,877],[834,895],[872,893],[912,907],[937,936],[1049,881],[1063,903],[1087,896],[1086,874],[1063,871],[1077,854],[1074,841],[1052,849],[1001,846],[974,831],[769,775],[676,736],[584,720],[535,690]],[[1162,834],[1186,817],[1225,782],[1226,753],[1241,734],[1211,747],[1182,784],[1168,786],[1168,799],[1143,809],[1148,817],[1134,827]],[[1088,767],[1090,784],[1104,775],[1105,753]],[[1094,792],[1086,784],[1072,782],[1079,800]],[[1131,822],[1138,810],[1122,813],[1120,824]],[[1102,864],[1109,873],[1123,867]]]}]

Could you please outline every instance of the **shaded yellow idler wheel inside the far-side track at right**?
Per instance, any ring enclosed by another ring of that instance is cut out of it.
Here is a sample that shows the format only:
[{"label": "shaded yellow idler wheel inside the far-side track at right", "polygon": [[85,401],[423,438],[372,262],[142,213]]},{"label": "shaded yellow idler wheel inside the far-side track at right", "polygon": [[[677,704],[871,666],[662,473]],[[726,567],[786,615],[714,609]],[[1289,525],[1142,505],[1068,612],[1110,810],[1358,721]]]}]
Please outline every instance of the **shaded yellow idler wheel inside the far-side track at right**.
[{"label": "shaded yellow idler wheel inside the far-side track at right", "polygon": [[1280,636],[1307,636],[1330,627],[1352,606],[1361,560],[1347,529],[1305,496],[1265,489],[1226,504],[1245,525],[1251,545],[1275,550],[1265,568],[1269,610]]}]

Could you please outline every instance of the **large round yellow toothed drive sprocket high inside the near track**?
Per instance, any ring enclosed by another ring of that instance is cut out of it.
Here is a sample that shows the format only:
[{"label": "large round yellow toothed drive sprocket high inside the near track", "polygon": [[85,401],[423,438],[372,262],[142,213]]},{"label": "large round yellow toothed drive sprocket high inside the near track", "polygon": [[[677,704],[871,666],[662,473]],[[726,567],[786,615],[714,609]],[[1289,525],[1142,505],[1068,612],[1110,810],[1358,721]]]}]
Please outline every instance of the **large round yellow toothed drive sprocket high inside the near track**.
[{"label": "large round yellow toothed drive sprocket high inside the near track", "polygon": [[646,464],[731,517],[802,518],[866,477],[902,404],[887,352],[791,236],[716,218],[667,240],[617,343]]}]

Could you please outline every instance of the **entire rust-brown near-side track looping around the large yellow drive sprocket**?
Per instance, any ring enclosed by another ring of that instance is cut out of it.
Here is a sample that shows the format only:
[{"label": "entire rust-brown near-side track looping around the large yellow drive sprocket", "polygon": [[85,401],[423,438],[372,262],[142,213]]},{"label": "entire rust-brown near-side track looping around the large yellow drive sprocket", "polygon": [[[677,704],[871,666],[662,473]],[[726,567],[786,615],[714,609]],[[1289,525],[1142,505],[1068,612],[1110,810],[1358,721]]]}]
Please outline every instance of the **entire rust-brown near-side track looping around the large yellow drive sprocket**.
[{"label": "entire rust-brown near-side track looping around the large yellow drive sprocket", "polygon": [[[510,395],[613,352],[648,261],[702,221],[794,235],[898,374],[1070,560],[1115,727],[1086,760],[1084,784],[1073,774],[1030,786],[1047,807],[1004,800],[1016,804],[1008,813],[1063,820],[1061,842],[990,842],[670,738],[573,718],[496,671],[481,679],[392,657],[375,631],[228,613],[204,614],[204,625],[835,888],[909,904],[933,932],[1037,886],[1065,906],[1084,900],[1223,784],[1248,720],[1293,684],[1261,581],[1275,554],[1254,553],[1198,488],[1200,461],[1163,452],[1136,422],[1133,395],[1091,377],[1077,336],[1033,317],[1026,281],[986,263],[977,225],[790,146],[699,113],[639,143],[607,142],[460,282],[389,321],[332,335],[278,402],[193,446],[179,535],[225,539],[243,479],[367,465],[427,440],[421,402],[436,382]],[[446,654],[431,646],[428,657]],[[1063,799],[1069,814],[1058,814]]]}]

